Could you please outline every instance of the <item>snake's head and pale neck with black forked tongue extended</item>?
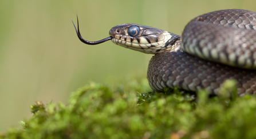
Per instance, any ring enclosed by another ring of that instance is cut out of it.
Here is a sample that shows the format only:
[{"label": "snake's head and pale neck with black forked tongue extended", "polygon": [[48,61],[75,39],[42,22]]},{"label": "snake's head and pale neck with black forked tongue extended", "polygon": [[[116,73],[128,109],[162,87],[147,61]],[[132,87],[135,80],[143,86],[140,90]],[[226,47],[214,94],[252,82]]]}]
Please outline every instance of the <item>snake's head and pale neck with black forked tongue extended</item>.
[{"label": "snake's head and pale neck with black forked tongue extended", "polygon": [[[74,28],[76,29],[75,25]],[[153,27],[137,24],[124,23],[117,25],[109,30],[110,37],[101,39],[100,41],[91,42],[82,38],[79,31],[77,18],[76,33],[80,41],[88,45],[97,45],[99,43],[112,40],[112,42],[116,45],[120,45],[132,50],[141,51],[143,53],[157,54],[166,51],[180,51],[179,35],[175,35],[160,29],[155,29]]]}]

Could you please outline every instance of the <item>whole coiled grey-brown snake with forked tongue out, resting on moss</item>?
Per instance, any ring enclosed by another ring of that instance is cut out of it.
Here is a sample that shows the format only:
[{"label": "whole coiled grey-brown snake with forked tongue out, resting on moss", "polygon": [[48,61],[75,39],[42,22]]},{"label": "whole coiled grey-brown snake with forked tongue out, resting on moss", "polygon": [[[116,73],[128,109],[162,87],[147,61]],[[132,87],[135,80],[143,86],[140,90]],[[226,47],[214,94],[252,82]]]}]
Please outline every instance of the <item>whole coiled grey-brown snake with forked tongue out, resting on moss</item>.
[{"label": "whole coiled grey-brown snake with forked tongue out, resting on moss", "polygon": [[[72,21],[73,22],[73,21]],[[74,22],[73,22],[74,25]],[[195,17],[182,35],[154,27],[124,23],[112,27],[97,45],[111,40],[128,49],[154,54],[148,64],[149,86],[156,92],[179,88],[220,93],[227,80],[235,80],[237,94],[256,94],[256,13],[242,9],[212,11]]]}]

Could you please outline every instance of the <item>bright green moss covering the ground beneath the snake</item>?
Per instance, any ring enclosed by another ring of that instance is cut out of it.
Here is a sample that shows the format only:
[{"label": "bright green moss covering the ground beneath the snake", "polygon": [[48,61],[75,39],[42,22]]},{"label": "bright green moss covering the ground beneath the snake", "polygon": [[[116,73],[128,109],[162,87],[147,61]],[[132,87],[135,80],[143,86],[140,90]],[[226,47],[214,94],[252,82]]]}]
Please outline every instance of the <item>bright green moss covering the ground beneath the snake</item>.
[{"label": "bright green moss covering the ground beneath the snake", "polygon": [[235,96],[234,82],[210,98],[177,89],[142,93],[145,84],[91,83],[73,92],[68,105],[36,102],[23,129],[0,138],[256,138],[256,98]]}]

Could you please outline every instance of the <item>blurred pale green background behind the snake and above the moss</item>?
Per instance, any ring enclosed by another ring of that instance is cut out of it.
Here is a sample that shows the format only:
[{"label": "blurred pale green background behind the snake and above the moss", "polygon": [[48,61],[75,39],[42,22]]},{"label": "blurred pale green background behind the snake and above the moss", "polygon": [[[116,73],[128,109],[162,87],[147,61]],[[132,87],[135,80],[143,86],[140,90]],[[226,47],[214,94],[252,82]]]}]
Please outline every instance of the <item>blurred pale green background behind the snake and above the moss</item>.
[{"label": "blurred pale green background behind the snake and above the moss", "polygon": [[34,101],[65,103],[70,92],[90,81],[111,85],[129,76],[146,77],[152,55],[111,41],[85,45],[70,19],[76,24],[76,14],[82,37],[97,41],[121,23],[180,35],[197,15],[221,9],[256,11],[255,5],[253,0],[1,1],[0,132],[31,117]]}]

